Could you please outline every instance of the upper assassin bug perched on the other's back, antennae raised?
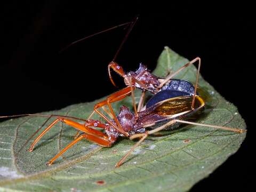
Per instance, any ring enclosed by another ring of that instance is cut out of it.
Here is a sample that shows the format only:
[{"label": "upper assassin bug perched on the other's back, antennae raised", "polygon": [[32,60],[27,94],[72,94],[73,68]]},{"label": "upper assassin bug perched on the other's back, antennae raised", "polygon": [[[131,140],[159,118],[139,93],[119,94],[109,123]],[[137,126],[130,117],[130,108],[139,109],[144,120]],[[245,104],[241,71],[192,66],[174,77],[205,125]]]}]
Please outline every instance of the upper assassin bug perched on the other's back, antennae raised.
[{"label": "upper assassin bug perched on the other's back, antennae raised", "polygon": [[[150,93],[156,94],[159,91],[167,89],[168,84],[170,83],[173,76],[178,74],[182,69],[185,69],[186,67],[188,67],[188,66],[192,65],[193,63],[195,63],[196,61],[198,61],[198,71],[197,71],[196,85],[195,85],[195,90],[194,90],[194,94],[196,94],[199,70],[200,70],[200,67],[201,67],[201,59],[199,57],[197,57],[194,60],[188,62],[183,67],[181,67],[175,73],[170,74],[169,76],[167,76],[166,78],[157,77],[157,76],[151,74],[150,71],[147,69],[147,67],[142,65],[142,64],[140,64],[140,67],[137,71],[135,71],[135,72],[130,71],[129,73],[125,73],[123,68],[121,66],[119,66],[118,63],[115,62],[115,60],[117,58],[117,55],[118,55],[119,51],[122,49],[122,46],[125,43],[127,37],[129,36],[132,28],[134,27],[135,23],[137,22],[137,20],[138,20],[138,17],[135,17],[135,19],[131,22],[123,23],[121,25],[111,27],[109,29],[106,29],[106,30],[100,31],[98,33],[95,33],[93,35],[84,37],[82,39],[79,39],[78,41],[75,41],[75,42],[69,44],[64,49],[61,50],[61,51],[66,50],[71,45],[74,45],[78,42],[84,41],[85,39],[87,39],[89,37],[92,37],[94,35],[104,33],[108,30],[112,30],[112,29],[117,28],[117,27],[130,25],[130,27],[127,30],[127,33],[126,33],[121,45],[119,45],[119,48],[118,48],[113,60],[108,65],[108,75],[109,75],[111,83],[113,83],[113,85],[116,86],[114,81],[113,81],[113,78],[111,77],[111,69],[113,69],[117,74],[121,75],[124,78],[124,83],[125,83],[126,87],[122,90],[119,90],[119,91],[109,95],[109,97],[107,97],[106,100],[103,100],[103,101],[97,103],[94,106],[93,112],[89,116],[89,119],[90,119],[95,112],[98,113],[98,115],[100,115],[103,119],[105,119],[105,121],[107,123],[109,123],[111,126],[115,127],[116,130],[118,130],[120,133],[124,134],[126,137],[128,137],[129,135],[122,130],[122,126],[119,123],[119,121],[118,121],[118,119],[117,119],[117,117],[114,113],[113,108],[111,107],[111,103],[120,101],[120,100],[124,99],[125,97],[127,97],[128,95],[132,95],[134,113],[135,113],[135,116],[138,116],[138,111],[140,111],[141,107],[143,106],[146,91],[149,91]],[[167,86],[165,86],[165,85],[167,85]],[[134,93],[133,93],[133,91],[136,88],[142,90],[141,99],[140,99],[140,102],[138,104],[138,108],[135,105]],[[194,103],[195,103],[195,98],[193,98],[191,109],[194,109]],[[105,107],[106,105],[108,106],[109,110]],[[113,118],[115,123],[109,121],[107,116],[105,116],[103,113],[101,113],[99,108],[102,108],[111,118]],[[75,135],[75,138],[78,135],[79,135],[79,132],[77,132],[77,134]]]}]

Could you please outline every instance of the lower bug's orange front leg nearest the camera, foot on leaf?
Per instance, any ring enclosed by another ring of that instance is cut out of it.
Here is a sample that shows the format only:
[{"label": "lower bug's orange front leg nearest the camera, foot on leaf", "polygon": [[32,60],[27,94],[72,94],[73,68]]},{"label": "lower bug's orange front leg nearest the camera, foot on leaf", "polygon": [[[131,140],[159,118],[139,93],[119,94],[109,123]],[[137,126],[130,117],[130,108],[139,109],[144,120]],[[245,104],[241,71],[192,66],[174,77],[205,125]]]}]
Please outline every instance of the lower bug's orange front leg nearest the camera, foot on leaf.
[{"label": "lower bug's orange front leg nearest the camera, foot on leaf", "polygon": [[90,135],[90,134],[82,134],[80,135],[78,138],[76,138],[74,141],[70,142],[68,146],[66,146],[64,149],[62,149],[60,151],[60,153],[58,153],[57,155],[55,155],[49,162],[46,163],[46,165],[50,166],[52,165],[52,163],[59,157],[61,156],[63,153],[65,153],[66,150],[68,150],[70,147],[72,147],[73,145],[75,145],[78,141],[82,140],[82,139],[87,139],[89,141],[92,141],[94,143],[97,143],[100,146],[103,147],[110,147],[113,143],[113,141],[109,141],[103,138],[99,138],[96,137],[94,135]]}]

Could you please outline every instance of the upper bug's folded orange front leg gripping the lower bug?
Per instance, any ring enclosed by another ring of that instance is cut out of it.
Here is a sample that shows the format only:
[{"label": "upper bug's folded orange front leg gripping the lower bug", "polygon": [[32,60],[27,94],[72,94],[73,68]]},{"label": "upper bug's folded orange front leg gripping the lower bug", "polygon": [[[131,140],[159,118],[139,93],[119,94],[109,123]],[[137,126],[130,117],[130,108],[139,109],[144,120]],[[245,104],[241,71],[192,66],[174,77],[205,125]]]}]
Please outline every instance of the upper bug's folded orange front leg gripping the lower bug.
[{"label": "upper bug's folded orange front leg gripping the lower bug", "polygon": [[[122,90],[117,91],[116,93],[111,94],[106,100],[101,101],[99,103],[97,103],[94,106],[94,111],[96,111],[103,119],[105,119],[111,126],[115,127],[116,130],[118,130],[119,132],[121,132],[122,134],[124,134],[125,136],[128,136],[128,133],[126,133],[125,131],[123,131],[122,126],[120,125],[118,119],[116,118],[116,115],[114,113],[113,108],[111,107],[110,103],[116,102],[116,101],[120,101],[122,99],[124,99],[125,97],[127,97],[127,95],[131,94],[131,89],[134,89],[134,87],[130,87],[127,86]],[[108,105],[109,109],[110,109],[110,113],[113,115],[114,120],[117,124],[114,125],[105,115],[103,115],[98,108]]]}]

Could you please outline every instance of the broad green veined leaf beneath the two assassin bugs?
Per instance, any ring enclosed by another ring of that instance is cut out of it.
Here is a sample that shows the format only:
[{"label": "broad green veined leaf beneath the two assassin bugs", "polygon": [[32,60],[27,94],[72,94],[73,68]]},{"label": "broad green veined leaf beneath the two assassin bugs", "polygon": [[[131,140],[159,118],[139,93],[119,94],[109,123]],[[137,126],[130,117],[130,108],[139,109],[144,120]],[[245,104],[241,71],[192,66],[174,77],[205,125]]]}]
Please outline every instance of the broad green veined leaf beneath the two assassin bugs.
[{"label": "broad green veined leaf beneath the two assassin bugs", "polygon": [[[187,59],[165,47],[154,73],[164,77],[186,62]],[[203,63],[203,67],[206,65]],[[196,68],[190,66],[177,77],[195,82]],[[199,85],[214,98],[215,107],[197,122],[245,129],[245,122],[234,105],[222,98],[202,77]],[[139,99],[139,91],[136,99]],[[98,101],[46,114],[86,118]],[[114,103],[116,113],[121,105],[132,109],[131,98]],[[99,119],[98,116],[93,118]],[[22,146],[44,122],[43,117],[29,116],[0,124],[0,190],[186,191],[234,154],[245,138],[245,133],[186,125],[175,132],[162,131],[152,135],[119,169],[115,169],[115,163],[136,141],[123,138],[111,148],[102,148],[82,140],[48,167],[45,163],[72,140],[76,131],[58,123],[29,153],[26,149],[32,140],[25,148]]]}]

